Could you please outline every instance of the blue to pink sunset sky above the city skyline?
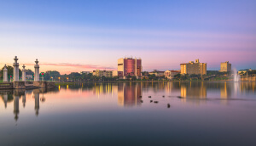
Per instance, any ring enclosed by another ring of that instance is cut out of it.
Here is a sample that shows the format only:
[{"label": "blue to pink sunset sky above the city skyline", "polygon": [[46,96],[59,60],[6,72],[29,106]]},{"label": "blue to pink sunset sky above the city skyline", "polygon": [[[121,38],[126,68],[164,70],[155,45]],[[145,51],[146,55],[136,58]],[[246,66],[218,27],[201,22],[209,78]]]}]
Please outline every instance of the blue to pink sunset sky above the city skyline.
[{"label": "blue to pink sunset sky above the city skyline", "polygon": [[0,2],[0,67],[61,74],[116,70],[117,59],[143,59],[143,70],[230,61],[256,69],[255,0],[41,0]]}]

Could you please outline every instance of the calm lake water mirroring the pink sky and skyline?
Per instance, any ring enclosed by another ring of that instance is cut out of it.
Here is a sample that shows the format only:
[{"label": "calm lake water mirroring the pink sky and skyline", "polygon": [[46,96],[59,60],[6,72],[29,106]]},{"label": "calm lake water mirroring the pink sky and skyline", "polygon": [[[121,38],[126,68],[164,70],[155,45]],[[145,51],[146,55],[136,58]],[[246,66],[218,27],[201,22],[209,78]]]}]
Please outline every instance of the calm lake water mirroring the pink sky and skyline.
[{"label": "calm lake water mirroring the pink sky and skyline", "polygon": [[256,145],[255,86],[126,82],[0,90],[0,145]]}]

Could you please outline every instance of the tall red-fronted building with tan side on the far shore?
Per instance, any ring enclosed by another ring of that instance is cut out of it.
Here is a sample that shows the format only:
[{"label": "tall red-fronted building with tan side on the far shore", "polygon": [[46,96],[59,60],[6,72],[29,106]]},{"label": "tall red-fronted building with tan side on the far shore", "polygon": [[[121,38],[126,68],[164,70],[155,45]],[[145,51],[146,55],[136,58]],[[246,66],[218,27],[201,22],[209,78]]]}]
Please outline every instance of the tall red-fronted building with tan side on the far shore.
[{"label": "tall red-fronted building with tan side on the far shore", "polygon": [[118,59],[118,76],[125,79],[126,76],[141,78],[143,71],[142,59]]}]

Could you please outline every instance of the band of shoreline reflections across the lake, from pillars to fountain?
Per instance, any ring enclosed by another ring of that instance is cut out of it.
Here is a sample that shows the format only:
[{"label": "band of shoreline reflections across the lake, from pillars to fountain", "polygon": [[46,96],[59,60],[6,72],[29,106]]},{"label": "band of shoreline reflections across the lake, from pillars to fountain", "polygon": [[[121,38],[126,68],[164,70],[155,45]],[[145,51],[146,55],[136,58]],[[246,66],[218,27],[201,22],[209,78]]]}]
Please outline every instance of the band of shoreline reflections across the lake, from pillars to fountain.
[{"label": "band of shoreline reflections across the lake, from pillars to fountain", "polygon": [[[14,104],[15,121],[18,121],[20,114],[19,102],[22,102],[23,108],[26,108],[27,98],[34,100],[35,115],[39,115],[40,101],[45,101],[44,94],[61,93],[61,90],[67,91],[67,97],[73,97],[76,93],[82,93],[82,96],[89,96],[92,93],[97,98],[102,95],[116,97],[116,104],[123,107],[141,106],[140,96],[147,97],[154,93],[161,93],[166,97],[182,97],[181,102],[188,103],[206,103],[209,99],[218,99],[222,104],[228,104],[230,99],[234,98],[255,98],[255,82],[164,82],[164,81],[145,81],[145,82],[119,82],[119,83],[82,83],[69,86],[59,86],[56,89],[45,90],[1,90],[0,95],[3,98],[4,108],[7,109],[9,103]],[[79,92],[77,92],[79,91]],[[19,101],[21,100],[21,101]],[[167,104],[167,103],[166,103]],[[22,112],[22,111],[21,111]]]}]

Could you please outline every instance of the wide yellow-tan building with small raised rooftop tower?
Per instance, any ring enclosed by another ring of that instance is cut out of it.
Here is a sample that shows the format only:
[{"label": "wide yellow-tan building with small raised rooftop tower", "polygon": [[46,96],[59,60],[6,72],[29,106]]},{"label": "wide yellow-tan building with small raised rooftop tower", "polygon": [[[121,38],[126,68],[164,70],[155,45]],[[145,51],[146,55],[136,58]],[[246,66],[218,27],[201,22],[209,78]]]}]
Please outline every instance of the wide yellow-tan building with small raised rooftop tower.
[{"label": "wide yellow-tan building with small raised rooftop tower", "polygon": [[189,63],[180,64],[181,74],[207,75],[207,64],[200,63],[199,59],[189,61]]}]

